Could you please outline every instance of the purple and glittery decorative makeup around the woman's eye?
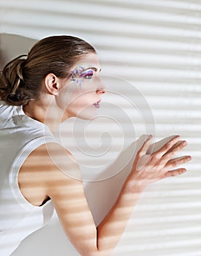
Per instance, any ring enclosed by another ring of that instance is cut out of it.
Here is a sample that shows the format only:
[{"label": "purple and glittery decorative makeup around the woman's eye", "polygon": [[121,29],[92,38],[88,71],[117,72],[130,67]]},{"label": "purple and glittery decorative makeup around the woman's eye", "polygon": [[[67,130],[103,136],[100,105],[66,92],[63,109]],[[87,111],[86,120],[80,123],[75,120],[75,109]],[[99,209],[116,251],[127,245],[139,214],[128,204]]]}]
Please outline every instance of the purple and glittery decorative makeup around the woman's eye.
[{"label": "purple and glittery decorative makeup around the woman's eye", "polygon": [[71,72],[71,81],[75,83],[76,88],[82,88],[82,79],[91,79],[94,74],[92,68],[85,68],[79,65]]}]

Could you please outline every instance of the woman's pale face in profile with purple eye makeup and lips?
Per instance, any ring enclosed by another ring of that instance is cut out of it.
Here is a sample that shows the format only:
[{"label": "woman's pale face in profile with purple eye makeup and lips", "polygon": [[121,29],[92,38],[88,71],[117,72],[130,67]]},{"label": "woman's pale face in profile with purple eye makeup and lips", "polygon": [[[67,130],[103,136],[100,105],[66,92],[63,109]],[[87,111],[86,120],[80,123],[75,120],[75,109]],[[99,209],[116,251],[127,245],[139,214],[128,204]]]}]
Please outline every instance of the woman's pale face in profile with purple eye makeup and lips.
[{"label": "woman's pale face in profile with purple eye makeup and lips", "polygon": [[100,108],[101,96],[105,87],[99,77],[101,67],[98,56],[88,53],[71,69],[71,77],[60,91],[59,104],[65,107],[64,119],[79,117],[90,119]]}]

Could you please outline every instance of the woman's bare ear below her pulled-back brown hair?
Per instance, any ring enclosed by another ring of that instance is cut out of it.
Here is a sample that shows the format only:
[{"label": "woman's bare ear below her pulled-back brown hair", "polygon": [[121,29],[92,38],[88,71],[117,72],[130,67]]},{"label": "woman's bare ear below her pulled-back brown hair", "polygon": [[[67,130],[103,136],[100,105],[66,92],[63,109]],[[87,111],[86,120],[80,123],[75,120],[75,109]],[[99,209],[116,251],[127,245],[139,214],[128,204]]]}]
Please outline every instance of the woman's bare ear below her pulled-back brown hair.
[{"label": "woman's bare ear below her pulled-back brown hair", "polygon": [[57,76],[52,73],[46,75],[46,77],[44,78],[44,84],[50,94],[58,95],[58,92],[60,90],[60,79]]}]

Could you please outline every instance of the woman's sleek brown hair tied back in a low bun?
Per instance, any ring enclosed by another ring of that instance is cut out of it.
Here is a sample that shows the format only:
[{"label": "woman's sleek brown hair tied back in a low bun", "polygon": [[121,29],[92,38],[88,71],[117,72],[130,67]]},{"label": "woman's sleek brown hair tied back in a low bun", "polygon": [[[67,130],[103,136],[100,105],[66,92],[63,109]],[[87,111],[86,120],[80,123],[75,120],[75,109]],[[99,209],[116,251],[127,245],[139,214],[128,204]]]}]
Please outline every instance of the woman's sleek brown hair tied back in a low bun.
[{"label": "woman's sleek brown hair tied back in a low bun", "polygon": [[18,56],[1,71],[1,100],[8,105],[26,105],[38,99],[47,74],[68,77],[76,61],[90,52],[95,53],[92,45],[78,37],[52,36],[36,42],[28,56]]}]

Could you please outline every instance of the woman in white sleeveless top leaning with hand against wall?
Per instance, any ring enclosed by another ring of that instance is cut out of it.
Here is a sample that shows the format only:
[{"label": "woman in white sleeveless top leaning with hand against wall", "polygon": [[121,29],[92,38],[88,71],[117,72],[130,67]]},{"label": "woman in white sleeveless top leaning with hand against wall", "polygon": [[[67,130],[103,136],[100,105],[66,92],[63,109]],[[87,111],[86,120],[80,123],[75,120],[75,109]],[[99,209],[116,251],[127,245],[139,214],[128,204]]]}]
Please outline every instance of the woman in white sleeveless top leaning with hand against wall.
[{"label": "woman in white sleeveless top leaning with hand against wall", "polygon": [[92,118],[105,88],[95,49],[83,39],[47,37],[28,56],[7,64],[0,77],[1,256],[10,255],[28,234],[52,216],[82,256],[111,255],[143,190],[152,182],[186,171],[191,157],[173,159],[186,146],[179,136],[146,156],[143,143],[119,197],[98,227],[84,196],[74,157],[54,138],[67,118]]}]

